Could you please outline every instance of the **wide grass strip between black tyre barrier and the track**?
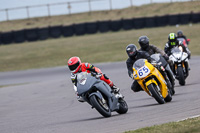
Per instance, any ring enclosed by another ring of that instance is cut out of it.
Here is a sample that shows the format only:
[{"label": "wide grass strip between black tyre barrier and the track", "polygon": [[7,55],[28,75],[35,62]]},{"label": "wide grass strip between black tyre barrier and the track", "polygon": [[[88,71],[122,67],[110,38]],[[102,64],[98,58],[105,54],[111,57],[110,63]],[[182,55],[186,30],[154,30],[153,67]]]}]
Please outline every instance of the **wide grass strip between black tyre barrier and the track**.
[{"label": "wide grass strip between black tyre barrier and the track", "polygon": [[0,46],[0,71],[25,70],[63,66],[71,56],[79,56],[83,62],[114,62],[127,58],[125,48],[138,38],[147,35],[150,43],[164,49],[170,32],[183,30],[191,39],[192,55],[200,55],[200,24],[146,28],[139,30],[98,33],[70,38]]}]

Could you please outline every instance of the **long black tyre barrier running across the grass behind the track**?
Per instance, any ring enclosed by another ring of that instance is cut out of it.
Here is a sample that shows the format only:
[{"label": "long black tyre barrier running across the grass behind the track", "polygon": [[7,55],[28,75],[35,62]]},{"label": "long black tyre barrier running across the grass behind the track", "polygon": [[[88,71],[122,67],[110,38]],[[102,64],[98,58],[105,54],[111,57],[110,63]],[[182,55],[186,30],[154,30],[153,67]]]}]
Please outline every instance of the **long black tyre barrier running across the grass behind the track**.
[{"label": "long black tyre barrier running across the grass behind the track", "polygon": [[120,19],[72,24],[69,26],[52,26],[0,33],[0,44],[21,43],[24,41],[45,40],[49,37],[69,37],[73,35],[94,34],[96,32],[118,31],[121,29],[140,29],[176,24],[199,23],[200,13],[185,13],[155,17]]}]

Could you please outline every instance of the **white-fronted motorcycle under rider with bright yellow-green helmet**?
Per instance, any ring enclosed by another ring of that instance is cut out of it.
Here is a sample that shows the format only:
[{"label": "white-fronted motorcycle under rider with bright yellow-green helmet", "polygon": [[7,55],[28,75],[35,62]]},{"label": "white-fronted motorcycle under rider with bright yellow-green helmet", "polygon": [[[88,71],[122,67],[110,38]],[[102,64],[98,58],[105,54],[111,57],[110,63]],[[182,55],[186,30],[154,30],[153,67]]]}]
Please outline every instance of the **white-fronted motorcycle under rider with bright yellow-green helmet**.
[{"label": "white-fronted motorcycle under rider with bright yellow-green helmet", "polygon": [[185,85],[185,79],[189,75],[189,60],[188,54],[183,52],[181,45],[172,48],[169,59],[173,62],[172,71],[180,85]]}]

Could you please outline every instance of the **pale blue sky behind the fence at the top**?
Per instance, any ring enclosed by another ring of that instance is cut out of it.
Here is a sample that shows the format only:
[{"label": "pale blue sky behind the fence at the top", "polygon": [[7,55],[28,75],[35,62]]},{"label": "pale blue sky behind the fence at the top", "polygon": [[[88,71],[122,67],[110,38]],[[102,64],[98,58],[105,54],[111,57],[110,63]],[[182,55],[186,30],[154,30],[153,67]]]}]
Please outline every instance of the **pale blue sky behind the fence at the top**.
[{"label": "pale blue sky behind the fence at the top", "polygon": [[[26,7],[26,6],[35,6],[35,5],[47,5],[63,2],[75,2],[75,1],[86,1],[81,3],[71,3],[71,9],[69,11],[67,4],[61,5],[51,5],[50,12],[48,12],[47,6],[41,7],[30,7],[28,9],[12,9],[6,12],[4,9],[11,9],[17,7]],[[69,13],[79,13],[79,12],[88,12],[89,4],[88,0],[0,0],[0,21],[5,21],[7,19],[23,19],[27,17],[40,17],[50,15],[61,15]],[[93,0],[90,0],[93,1]],[[149,4],[150,2],[170,2],[171,0],[98,0],[91,2],[91,10],[109,10],[112,9],[121,9],[131,6],[131,4],[139,6],[142,4]],[[172,0],[172,1],[188,1],[188,0]],[[111,3],[112,4],[111,4]]]}]

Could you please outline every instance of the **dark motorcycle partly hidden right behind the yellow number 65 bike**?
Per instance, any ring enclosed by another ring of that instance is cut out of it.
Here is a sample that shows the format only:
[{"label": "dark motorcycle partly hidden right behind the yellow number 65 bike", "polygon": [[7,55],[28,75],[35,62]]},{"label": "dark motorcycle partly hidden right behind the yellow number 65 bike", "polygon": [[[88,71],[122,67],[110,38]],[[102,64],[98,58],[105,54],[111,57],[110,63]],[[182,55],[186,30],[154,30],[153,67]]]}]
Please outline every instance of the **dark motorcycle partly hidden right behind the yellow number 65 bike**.
[{"label": "dark motorcycle partly hidden right behind the yellow number 65 bike", "polygon": [[168,62],[161,54],[152,54],[151,58],[153,58],[156,61],[156,68],[160,71],[165,81],[167,82],[167,87],[170,90],[170,93],[174,95],[175,77]]}]

